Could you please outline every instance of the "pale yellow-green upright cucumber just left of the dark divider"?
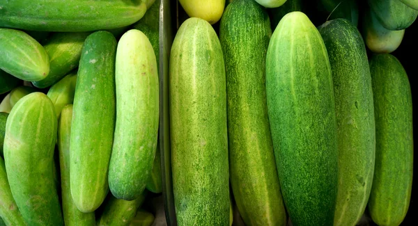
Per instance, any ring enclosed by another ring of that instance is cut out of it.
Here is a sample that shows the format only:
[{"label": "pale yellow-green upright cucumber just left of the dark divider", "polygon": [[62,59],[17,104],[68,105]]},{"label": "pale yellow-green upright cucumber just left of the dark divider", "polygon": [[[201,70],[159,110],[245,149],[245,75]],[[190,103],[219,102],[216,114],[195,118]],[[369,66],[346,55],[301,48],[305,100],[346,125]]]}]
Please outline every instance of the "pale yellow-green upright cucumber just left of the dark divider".
[{"label": "pale yellow-green upright cucumber just left of the dark divider", "polygon": [[109,188],[135,200],[153,170],[160,119],[157,60],[150,41],[127,31],[116,51],[116,127],[109,163]]}]

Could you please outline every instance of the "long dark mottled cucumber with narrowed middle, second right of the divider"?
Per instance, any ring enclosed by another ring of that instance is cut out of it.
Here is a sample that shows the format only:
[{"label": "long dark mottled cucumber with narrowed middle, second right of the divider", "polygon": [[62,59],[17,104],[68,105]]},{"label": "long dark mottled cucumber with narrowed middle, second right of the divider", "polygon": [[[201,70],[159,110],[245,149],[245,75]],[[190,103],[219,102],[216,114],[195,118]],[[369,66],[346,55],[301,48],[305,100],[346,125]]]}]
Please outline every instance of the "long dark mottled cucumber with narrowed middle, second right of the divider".
[{"label": "long dark mottled cucumber with narrowed middle, second right of the divider", "polygon": [[221,19],[226,67],[229,173],[246,225],[286,225],[265,101],[265,55],[272,31],[254,0],[234,0]]}]

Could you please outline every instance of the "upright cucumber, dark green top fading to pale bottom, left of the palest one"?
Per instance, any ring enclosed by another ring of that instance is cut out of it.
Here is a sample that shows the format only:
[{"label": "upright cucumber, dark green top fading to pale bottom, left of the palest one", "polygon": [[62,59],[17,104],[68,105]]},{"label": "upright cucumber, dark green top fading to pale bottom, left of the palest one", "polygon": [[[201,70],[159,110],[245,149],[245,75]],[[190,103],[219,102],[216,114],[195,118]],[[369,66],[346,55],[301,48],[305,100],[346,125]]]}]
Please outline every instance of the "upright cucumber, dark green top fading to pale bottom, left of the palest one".
[{"label": "upright cucumber, dark green top fading to pale bottom, left of the palest one", "polygon": [[70,142],[70,187],[77,208],[98,209],[107,181],[116,120],[116,39],[107,31],[88,35],[75,86]]}]

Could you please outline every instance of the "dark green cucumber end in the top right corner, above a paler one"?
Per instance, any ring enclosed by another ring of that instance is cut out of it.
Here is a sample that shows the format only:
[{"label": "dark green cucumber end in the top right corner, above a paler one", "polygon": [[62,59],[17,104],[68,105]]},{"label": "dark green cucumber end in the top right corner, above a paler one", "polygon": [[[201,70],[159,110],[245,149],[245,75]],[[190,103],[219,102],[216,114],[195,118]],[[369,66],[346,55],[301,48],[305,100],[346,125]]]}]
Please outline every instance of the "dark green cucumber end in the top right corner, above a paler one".
[{"label": "dark green cucumber end in the top right corner, above a paler one", "polygon": [[406,6],[399,0],[367,0],[385,29],[399,31],[407,29],[418,16],[418,10]]}]

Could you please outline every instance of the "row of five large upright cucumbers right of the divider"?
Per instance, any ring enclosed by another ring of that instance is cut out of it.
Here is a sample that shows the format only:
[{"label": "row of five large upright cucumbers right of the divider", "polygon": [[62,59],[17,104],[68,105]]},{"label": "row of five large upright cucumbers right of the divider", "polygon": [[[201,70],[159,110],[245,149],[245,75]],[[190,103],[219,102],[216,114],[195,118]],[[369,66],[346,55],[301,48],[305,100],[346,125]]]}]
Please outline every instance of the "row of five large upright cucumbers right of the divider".
[{"label": "row of five large upright cucumbers right of the divider", "polygon": [[[396,0],[398,1],[398,0]],[[412,188],[412,97],[390,54],[369,58],[348,19],[274,29],[233,0],[219,38],[191,17],[170,56],[178,225],[229,225],[229,187],[246,225],[356,225],[366,207],[399,225]]]}]

